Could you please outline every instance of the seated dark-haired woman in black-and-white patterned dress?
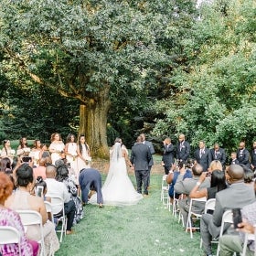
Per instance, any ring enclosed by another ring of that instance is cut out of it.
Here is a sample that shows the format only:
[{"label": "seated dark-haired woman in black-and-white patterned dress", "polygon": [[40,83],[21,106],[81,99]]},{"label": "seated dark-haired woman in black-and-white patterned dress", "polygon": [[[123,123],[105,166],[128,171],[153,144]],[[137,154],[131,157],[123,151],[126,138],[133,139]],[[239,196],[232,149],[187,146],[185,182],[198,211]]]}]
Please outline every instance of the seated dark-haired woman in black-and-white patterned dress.
[{"label": "seated dark-haired woman in black-and-white patterned dress", "polygon": [[59,165],[57,167],[56,180],[63,182],[69,191],[69,196],[74,201],[76,206],[76,214],[74,218],[74,224],[80,222],[83,217],[83,208],[80,197],[78,197],[78,187],[75,182],[69,177],[69,169],[67,165]]}]

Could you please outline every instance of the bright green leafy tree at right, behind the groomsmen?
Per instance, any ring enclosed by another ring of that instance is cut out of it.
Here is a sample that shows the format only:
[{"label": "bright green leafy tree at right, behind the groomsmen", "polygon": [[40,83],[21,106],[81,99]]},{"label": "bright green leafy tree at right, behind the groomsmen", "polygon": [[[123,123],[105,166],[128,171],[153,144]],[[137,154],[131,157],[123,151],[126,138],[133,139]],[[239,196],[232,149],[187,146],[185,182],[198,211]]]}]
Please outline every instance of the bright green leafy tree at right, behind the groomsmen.
[{"label": "bright green leafy tree at right, behind the groomsmen", "polygon": [[251,144],[256,44],[255,27],[248,26],[256,21],[255,5],[223,3],[203,5],[193,37],[183,41],[188,69],[173,72],[176,95],[157,102],[165,116],[157,120],[155,134],[186,133],[193,146],[204,139],[208,146],[219,142],[229,150],[241,139]]}]

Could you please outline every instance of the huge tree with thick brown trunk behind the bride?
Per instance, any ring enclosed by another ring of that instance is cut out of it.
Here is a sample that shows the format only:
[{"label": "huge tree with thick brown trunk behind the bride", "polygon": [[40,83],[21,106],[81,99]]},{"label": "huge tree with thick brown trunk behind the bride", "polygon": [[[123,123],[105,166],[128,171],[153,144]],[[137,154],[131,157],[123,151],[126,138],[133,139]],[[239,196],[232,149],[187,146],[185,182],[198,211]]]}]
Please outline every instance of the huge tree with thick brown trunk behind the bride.
[{"label": "huge tree with thick brown trunk behind the bride", "polygon": [[[194,4],[194,5],[192,5]],[[177,17],[195,1],[1,1],[4,70],[16,86],[37,82],[80,102],[80,133],[106,155],[112,95],[138,97],[172,66]],[[174,45],[170,45],[173,43]],[[165,46],[168,45],[168,51]]]}]

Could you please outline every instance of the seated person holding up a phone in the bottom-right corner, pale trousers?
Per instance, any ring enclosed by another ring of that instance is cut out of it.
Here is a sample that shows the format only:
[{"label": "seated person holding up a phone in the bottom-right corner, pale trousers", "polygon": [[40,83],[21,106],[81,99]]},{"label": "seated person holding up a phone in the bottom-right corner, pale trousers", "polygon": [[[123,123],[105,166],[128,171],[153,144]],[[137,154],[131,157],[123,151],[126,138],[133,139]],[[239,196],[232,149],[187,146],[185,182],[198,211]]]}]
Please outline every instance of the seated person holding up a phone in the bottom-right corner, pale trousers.
[{"label": "seated person holding up a phone in the bottom-right corner, pale trousers", "polygon": [[[240,234],[224,235],[219,238],[220,255],[232,256],[243,250],[244,233],[254,234],[256,224],[256,202],[241,208],[242,222],[238,224]],[[253,256],[255,251],[255,240],[248,240],[247,256]]]}]

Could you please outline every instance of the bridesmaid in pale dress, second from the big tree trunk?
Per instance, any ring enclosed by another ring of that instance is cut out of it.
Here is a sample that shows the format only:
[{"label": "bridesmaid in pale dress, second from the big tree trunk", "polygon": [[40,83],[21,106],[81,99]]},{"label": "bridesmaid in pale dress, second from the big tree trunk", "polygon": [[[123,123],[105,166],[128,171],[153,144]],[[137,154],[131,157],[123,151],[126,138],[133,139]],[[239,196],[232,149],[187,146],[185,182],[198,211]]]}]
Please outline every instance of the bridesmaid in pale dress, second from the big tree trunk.
[{"label": "bridesmaid in pale dress, second from the big tree trunk", "polygon": [[65,144],[65,154],[67,158],[67,162],[70,164],[70,169],[73,171],[73,174],[75,176],[75,182],[78,185],[79,181],[79,171],[78,171],[78,161],[77,161],[77,150],[78,150],[78,144],[77,144],[77,138],[74,134],[69,133],[67,136],[67,141]]}]

